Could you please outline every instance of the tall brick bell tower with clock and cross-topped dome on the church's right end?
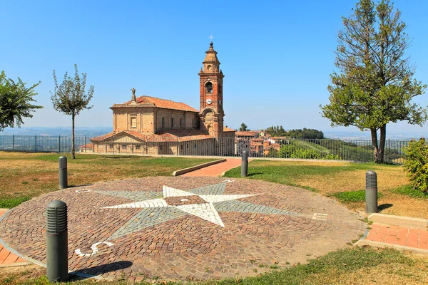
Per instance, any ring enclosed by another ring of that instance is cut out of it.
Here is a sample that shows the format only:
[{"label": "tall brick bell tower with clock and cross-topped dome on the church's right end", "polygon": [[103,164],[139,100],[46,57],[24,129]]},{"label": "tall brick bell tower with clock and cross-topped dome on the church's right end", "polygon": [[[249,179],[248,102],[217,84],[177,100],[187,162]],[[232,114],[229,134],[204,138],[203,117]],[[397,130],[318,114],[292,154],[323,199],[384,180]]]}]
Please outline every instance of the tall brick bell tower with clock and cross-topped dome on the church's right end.
[{"label": "tall brick bell tower with clock and cross-topped dome on the church's right end", "polygon": [[205,51],[205,59],[200,68],[200,129],[205,130],[215,138],[223,138],[223,72],[220,70],[220,61],[217,51],[210,48]]}]

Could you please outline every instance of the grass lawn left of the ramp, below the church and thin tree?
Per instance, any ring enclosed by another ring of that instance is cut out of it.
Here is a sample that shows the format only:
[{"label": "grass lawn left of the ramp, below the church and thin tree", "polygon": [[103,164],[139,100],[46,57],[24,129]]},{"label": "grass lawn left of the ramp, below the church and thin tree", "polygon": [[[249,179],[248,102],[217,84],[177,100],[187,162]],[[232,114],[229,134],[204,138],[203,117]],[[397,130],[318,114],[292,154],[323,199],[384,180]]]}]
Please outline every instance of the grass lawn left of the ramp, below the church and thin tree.
[{"label": "grass lawn left of the ramp, below the church and thin tree", "polygon": [[[58,190],[57,153],[0,152],[0,207],[10,208],[42,193]],[[66,155],[68,185],[114,179],[171,176],[175,170],[212,159],[122,155]]]}]

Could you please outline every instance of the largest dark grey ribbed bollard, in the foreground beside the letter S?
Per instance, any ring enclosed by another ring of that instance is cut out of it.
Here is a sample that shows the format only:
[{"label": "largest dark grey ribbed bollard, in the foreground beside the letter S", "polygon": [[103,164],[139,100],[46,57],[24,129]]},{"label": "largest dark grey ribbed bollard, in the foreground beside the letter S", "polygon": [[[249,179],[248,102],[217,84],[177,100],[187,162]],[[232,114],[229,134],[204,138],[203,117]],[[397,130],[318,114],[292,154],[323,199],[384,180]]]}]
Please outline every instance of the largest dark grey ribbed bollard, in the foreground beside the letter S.
[{"label": "largest dark grey ribbed bollard, in the foreground beside the letter S", "polygon": [[67,205],[60,200],[46,209],[46,275],[51,282],[68,280]]}]

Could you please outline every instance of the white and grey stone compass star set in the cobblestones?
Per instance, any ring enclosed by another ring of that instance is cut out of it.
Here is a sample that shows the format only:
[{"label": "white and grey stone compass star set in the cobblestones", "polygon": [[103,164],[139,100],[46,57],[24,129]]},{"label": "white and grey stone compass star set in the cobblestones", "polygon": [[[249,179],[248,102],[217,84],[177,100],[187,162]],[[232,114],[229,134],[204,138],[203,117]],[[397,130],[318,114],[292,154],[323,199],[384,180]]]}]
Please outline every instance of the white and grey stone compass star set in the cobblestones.
[{"label": "white and grey stone compass star set in the cobblestones", "polygon": [[225,195],[227,182],[207,185],[190,190],[178,190],[163,186],[163,192],[155,191],[96,191],[99,194],[131,199],[134,202],[103,207],[103,209],[141,209],[121,228],[114,232],[108,240],[138,232],[146,227],[168,222],[173,219],[193,215],[205,221],[225,227],[218,212],[243,212],[260,214],[296,215],[274,207],[267,207],[245,199],[256,194]]}]

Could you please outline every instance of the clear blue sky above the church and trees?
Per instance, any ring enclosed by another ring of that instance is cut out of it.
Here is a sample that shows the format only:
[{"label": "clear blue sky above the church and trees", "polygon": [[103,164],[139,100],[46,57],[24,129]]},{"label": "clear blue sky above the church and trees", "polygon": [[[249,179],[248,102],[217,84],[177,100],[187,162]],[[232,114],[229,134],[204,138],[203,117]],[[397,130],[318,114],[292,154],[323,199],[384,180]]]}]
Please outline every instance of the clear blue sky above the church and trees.
[{"label": "clear blue sky above the church and trees", "polygon": [[[198,71],[213,34],[224,79],[225,125],[332,130],[320,115],[335,69],[341,16],[356,0],[329,1],[1,1],[0,70],[42,81],[37,110],[25,126],[69,126],[52,108],[52,71],[73,64],[95,87],[93,108],[77,126],[111,126],[113,103],[137,95],[199,108]],[[415,78],[428,83],[428,1],[395,0],[413,42]],[[428,105],[428,94],[416,98]],[[407,123],[389,131],[428,133]],[[335,128],[335,130],[357,130]]]}]

